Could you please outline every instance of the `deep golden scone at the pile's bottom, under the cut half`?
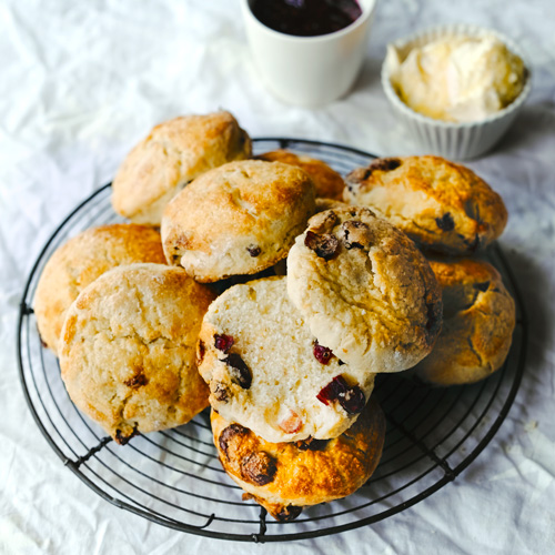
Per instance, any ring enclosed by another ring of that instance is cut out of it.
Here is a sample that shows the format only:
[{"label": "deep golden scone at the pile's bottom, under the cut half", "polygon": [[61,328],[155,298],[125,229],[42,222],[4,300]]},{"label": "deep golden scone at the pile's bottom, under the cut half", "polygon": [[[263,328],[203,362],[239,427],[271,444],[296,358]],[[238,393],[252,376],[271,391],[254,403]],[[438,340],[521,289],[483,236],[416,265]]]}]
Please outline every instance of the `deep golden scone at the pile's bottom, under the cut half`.
[{"label": "deep golden scone at the pile's bottom, under the cut half", "polygon": [[385,417],[371,397],[359,420],[334,440],[270,443],[212,411],[214,444],[225,472],[278,521],[304,506],[345,497],[373,474]]}]

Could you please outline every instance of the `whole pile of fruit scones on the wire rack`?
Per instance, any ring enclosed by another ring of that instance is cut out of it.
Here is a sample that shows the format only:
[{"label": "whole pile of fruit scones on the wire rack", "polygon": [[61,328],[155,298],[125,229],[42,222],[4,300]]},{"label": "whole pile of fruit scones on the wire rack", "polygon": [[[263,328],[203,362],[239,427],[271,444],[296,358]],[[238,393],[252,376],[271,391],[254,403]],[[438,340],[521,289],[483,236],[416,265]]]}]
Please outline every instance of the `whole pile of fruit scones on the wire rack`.
[{"label": "whole pile of fruit scones on the wire rack", "polygon": [[112,204],[135,223],[70,240],[37,291],[71,398],[121,444],[210,404],[223,467],[280,521],[374,472],[375,374],[465,383],[506,355],[514,305],[493,266],[416,246],[473,253],[503,230],[501,199],[464,168],[387,159],[345,186],[319,160],[253,159],[218,112],[154,128]]}]

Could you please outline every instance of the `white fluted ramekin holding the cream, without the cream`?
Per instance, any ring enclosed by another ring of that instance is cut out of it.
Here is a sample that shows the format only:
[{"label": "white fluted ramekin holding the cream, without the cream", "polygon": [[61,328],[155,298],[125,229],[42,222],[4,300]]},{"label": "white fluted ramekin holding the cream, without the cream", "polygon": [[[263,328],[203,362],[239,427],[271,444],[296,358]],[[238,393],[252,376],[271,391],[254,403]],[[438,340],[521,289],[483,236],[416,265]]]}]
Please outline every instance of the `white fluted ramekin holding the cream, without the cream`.
[{"label": "white fluted ramekin holding the cream, without the cream", "polygon": [[495,114],[476,122],[453,123],[434,120],[408,108],[395,92],[390,74],[387,58],[382,65],[382,87],[396,115],[410,130],[413,138],[430,154],[452,160],[467,160],[484,154],[503,137],[532,89],[531,65],[518,48],[508,37],[492,30],[468,24],[441,26],[418,32],[406,39],[397,40],[392,46],[406,57],[408,51],[427,42],[450,36],[497,37],[513,53],[521,57],[526,68],[526,82],[521,94],[506,108]]}]

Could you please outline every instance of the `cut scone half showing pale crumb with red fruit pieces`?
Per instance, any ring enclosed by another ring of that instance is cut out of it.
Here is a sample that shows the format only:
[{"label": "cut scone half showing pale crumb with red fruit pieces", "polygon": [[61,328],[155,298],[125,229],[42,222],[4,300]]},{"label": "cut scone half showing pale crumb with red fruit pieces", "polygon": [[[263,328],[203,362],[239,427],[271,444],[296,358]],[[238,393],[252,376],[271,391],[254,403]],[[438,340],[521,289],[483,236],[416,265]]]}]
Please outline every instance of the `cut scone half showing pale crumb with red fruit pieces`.
[{"label": "cut scone half showing pale crumb with red fruit pieces", "polygon": [[199,371],[222,417],[269,442],[336,437],[364,407],[374,374],[351,369],[315,341],[285,281],[234,285],[210,305]]}]

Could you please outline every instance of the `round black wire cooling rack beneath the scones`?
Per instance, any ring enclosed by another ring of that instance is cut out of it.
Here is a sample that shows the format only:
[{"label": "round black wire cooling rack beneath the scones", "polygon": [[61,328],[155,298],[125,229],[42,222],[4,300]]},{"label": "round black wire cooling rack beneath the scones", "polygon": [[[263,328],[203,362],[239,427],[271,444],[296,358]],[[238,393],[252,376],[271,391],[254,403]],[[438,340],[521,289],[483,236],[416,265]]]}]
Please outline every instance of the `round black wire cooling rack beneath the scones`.
[{"label": "round black wire cooling rack beneath the scones", "polygon": [[[317,141],[255,139],[254,153],[287,148],[319,158],[342,174],[366,165],[363,151]],[[21,300],[18,354],[23,393],[52,450],[104,500],[161,525],[221,539],[278,542],[317,537],[367,526],[411,507],[454,481],[486,447],[507,415],[526,359],[527,322],[516,281],[498,245],[487,252],[516,301],[513,345],[504,366],[487,380],[434,389],[403,375],[381,375],[377,396],[387,418],[382,460],[356,493],[305,508],[290,523],[266,519],[265,509],[242,501],[212,443],[208,411],[189,424],[115,445],[70,401],[58,360],[41,344],[32,311],[46,262],[69,238],[121,219],[111,185],[77,206],[54,231],[31,271]]]}]

